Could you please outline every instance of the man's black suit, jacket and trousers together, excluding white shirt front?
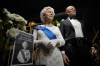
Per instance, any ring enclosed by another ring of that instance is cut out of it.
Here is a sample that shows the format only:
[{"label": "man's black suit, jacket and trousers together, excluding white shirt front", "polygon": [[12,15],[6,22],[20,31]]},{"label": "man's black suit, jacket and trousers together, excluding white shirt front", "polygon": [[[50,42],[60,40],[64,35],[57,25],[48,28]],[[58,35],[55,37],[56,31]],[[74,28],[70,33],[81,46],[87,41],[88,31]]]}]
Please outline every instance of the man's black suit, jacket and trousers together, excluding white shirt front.
[{"label": "man's black suit, jacket and trousers together, excluding white shirt front", "polygon": [[85,38],[86,26],[83,21],[79,22],[84,37],[75,37],[75,30],[69,19],[65,19],[60,23],[59,28],[66,41],[65,46],[60,47],[60,50],[65,51],[65,54],[69,57],[70,66],[92,66],[93,62],[89,51],[91,44]]}]

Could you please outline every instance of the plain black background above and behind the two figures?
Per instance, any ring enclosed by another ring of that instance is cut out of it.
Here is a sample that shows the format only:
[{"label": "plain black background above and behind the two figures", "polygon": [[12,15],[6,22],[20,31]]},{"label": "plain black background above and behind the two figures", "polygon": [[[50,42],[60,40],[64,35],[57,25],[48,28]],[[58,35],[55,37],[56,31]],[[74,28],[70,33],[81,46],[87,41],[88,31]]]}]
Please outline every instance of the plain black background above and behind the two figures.
[{"label": "plain black background above and behind the two figures", "polygon": [[55,9],[55,18],[66,18],[65,8],[73,5],[77,9],[77,17],[83,19],[88,29],[88,34],[97,32],[100,27],[100,7],[98,0],[0,0],[0,11],[7,8],[11,13],[23,16],[28,22],[40,23],[40,11],[45,6]]}]

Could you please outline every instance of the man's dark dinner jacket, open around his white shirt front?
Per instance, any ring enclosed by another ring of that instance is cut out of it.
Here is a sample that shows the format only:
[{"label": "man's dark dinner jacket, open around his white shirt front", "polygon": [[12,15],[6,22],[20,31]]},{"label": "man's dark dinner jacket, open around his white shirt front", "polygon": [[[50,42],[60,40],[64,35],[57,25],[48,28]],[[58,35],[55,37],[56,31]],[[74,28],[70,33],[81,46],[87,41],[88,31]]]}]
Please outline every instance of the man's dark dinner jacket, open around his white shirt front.
[{"label": "man's dark dinner jacket, open around his white shirt front", "polygon": [[[85,29],[83,27],[84,22],[78,20],[81,23],[83,35],[85,35]],[[69,19],[65,19],[60,22],[60,31],[62,33],[63,38],[67,41],[68,39],[75,38],[75,30],[73,25],[71,24]],[[60,47],[61,50],[64,50],[64,47]]]}]

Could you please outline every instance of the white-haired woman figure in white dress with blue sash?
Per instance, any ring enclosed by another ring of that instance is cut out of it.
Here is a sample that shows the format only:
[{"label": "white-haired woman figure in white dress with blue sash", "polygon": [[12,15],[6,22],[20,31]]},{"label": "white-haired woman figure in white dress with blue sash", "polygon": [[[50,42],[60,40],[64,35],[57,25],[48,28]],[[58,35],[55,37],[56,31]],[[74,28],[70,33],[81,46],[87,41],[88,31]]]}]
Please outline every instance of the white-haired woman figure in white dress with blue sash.
[{"label": "white-haired woman figure in white dress with blue sash", "polygon": [[34,43],[40,49],[36,64],[46,66],[64,66],[62,55],[58,47],[63,46],[65,41],[58,27],[52,24],[54,9],[44,7],[40,12],[43,25],[35,27],[33,36]]}]

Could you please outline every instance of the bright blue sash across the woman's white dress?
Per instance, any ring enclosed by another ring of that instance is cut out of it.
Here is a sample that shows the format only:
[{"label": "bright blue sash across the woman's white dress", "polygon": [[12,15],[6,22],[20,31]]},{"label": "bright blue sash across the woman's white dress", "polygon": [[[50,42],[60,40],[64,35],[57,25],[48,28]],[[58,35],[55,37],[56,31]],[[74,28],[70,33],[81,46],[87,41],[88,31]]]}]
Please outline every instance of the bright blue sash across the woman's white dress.
[{"label": "bright blue sash across the woman's white dress", "polygon": [[42,30],[50,40],[57,38],[56,35],[46,27],[36,26],[35,29]]}]

